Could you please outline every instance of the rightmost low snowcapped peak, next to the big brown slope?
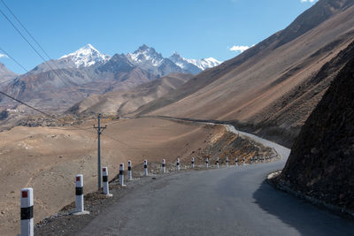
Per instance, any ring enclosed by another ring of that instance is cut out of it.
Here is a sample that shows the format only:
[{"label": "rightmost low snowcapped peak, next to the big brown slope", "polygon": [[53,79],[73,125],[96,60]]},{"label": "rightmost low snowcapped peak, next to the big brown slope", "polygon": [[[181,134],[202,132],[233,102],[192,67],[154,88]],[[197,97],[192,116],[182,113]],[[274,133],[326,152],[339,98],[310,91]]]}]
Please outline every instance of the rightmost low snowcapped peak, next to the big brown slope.
[{"label": "rightmost low snowcapped peak, next to the big brown slope", "polygon": [[[206,69],[212,68],[214,66],[220,65],[222,62],[218,61],[215,58],[209,57],[209,58],[204,58],[204,59],[187,59],[184,57],[181,57],[181,55],[178,52],[174,52],[171,57],[169,57],[170,60],[173,61],[176,65],[180,66],[182,69],[190,71],[190,70],[196,70],[199,72],[202,72]],[[198,69],[196,69],[198,68]]]}]

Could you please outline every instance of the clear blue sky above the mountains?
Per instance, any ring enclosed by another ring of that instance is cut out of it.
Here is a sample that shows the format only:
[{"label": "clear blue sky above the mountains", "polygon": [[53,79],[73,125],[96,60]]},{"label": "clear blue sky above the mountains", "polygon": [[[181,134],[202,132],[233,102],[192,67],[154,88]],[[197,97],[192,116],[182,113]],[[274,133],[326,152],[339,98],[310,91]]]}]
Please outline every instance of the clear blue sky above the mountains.
[{"label": "clear blue sky above the mountains", "polygon": [[[4,0],[38,42],[58,58],[91,43],[113,55],[143,43],[164,57],[237,56],[238,46],[256,44],[287,27],[313,0]],[[0,9],[10,13],[0,2]],[[12,19],[12,18],[11,18]],[[14,19],[13,19],[14,20]],[[42,63],[0,15],[0,47],[27,70]],[[241,48],[242,49],[242,48]],[[1,57],[14,72],[24,71]]]}]

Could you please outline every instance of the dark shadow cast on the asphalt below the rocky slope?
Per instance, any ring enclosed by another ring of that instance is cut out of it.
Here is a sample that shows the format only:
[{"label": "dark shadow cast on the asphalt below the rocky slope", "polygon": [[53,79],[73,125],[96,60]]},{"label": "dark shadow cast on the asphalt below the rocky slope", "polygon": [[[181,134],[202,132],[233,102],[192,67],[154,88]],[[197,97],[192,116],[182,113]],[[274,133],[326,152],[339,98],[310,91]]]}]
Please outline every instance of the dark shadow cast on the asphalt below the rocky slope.
[{"label": "dark shadow cast on the asphalt below the rocky slope", "polygon": [[266,180],[253,197],[261,209],[278,217],[302,235],[353,235],[354,221],[335,216],[295,196],[278,191]]}]

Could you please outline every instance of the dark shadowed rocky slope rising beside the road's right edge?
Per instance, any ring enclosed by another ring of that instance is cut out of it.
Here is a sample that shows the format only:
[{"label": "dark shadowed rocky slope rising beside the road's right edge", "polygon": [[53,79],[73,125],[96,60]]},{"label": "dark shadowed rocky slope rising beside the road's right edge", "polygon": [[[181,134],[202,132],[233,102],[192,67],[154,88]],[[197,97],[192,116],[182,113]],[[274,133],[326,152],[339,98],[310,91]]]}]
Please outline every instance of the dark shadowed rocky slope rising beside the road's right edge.
[{"label": "dark shadowed rocky slope rising beside the road's right edge", "polygon": [[354,48],[350,62],[306,120],[281,185],[354,210]]}]

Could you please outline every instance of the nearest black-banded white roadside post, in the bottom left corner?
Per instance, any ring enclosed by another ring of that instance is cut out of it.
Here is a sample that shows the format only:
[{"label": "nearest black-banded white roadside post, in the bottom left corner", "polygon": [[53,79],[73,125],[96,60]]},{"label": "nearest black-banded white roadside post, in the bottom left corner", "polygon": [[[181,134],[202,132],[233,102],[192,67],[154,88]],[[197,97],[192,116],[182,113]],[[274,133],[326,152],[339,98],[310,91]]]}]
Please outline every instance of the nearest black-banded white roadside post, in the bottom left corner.
[{"label": "nearest black-banded white roadside post, in the bottom left corner", "polygon": [[34,235],[34,199],[33,188],[21,189],[21,236]]}]

